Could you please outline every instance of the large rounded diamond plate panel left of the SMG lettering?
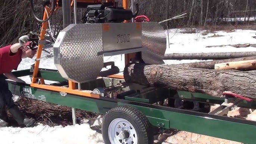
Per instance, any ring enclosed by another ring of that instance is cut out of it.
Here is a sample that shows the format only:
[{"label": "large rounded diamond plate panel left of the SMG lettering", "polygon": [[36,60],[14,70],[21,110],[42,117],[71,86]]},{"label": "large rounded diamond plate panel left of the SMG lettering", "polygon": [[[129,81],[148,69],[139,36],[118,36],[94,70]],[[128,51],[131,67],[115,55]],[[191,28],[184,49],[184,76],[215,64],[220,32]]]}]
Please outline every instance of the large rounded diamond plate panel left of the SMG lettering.
[{"label": "large rounded diamond plate panel left of the SMG lettering", "polygon": [[86,82],[103,68],[102,24],[71,24],[54,44],[54,64],[63,78]]}]

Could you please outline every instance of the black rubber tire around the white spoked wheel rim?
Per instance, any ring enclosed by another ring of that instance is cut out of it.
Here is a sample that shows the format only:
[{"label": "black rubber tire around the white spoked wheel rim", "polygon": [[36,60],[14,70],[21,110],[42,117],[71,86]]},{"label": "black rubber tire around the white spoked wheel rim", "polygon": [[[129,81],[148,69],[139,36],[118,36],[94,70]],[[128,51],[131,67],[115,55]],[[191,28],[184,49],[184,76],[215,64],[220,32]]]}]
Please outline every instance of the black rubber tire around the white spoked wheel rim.
[{"label": "black rubber tire around the white spoked wheel rim", "polygon": [[[122,118],[131,123],[137,134],[137,144],[153,144],[152,126],[147,117],[134,107],[126,105],[114,107],[104,116],[102,123],[102,137],[105,144],[111,144],[108,129],[110,123],[116,118]],[[119,144],[122,144],[122,142]]]}]

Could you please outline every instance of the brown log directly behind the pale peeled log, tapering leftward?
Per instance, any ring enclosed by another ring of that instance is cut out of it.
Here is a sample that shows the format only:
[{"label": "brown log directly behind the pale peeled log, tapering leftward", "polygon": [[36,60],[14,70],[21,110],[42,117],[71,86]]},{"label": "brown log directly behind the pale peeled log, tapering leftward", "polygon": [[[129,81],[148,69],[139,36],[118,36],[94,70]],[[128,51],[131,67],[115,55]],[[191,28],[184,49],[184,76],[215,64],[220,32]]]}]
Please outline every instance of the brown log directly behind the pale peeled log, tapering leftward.
[{"label": "brown log directly behind the pale peeled log, tapering leftward", "polygon": [[175,64],[175,66],[184,66],[184,67],[201,68],[201,69],[215,69],[216,63],[237,62],[241,60],[254,60],[254,59],[256,59],[256,56],[240,57],[240,58],[225,59],[225,60],[212,60],[212,61],[206,61],[206,62],[182,63],[182,64]]}]

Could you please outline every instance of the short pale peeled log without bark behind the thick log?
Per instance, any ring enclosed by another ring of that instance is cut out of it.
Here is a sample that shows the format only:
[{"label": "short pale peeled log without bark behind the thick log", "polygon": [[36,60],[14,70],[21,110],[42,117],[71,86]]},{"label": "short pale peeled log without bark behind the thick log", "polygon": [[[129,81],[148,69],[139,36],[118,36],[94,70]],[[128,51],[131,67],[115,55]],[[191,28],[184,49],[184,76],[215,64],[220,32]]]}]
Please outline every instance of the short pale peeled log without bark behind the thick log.
[{"label": "short pale peeled log without bark behind the thick log", "polygon": [[255,70],[256,60],[241,60],[238,62],[216,63],[215,69]]}]

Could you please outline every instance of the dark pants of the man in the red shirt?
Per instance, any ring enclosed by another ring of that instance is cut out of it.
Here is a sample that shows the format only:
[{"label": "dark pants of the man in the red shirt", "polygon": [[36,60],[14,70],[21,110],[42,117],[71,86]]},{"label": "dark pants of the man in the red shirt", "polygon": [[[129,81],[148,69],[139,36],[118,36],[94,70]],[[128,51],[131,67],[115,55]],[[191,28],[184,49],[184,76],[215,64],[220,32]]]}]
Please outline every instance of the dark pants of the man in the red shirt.
[{"label": "dark pants of the man in the red shirt", "polygon": [[7,107],[7,109],[15,106],[12,99],[12,92],[9,90],[8,83],[5,79],[0,78],[0,109]]}]

